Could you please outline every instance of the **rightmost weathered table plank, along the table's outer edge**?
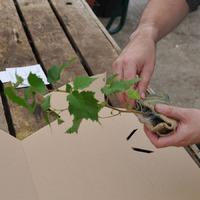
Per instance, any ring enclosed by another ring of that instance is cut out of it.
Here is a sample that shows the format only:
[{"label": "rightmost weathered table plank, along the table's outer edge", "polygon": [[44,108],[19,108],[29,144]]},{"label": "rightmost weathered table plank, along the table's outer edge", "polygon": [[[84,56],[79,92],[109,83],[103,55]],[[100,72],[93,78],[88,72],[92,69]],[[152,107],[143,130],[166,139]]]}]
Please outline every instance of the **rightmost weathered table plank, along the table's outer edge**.
[{"label": "rightmost weathered table plank, along the table's outer edge", "polygon": [[[81,0],[49,0],[94,74],[112,71],[118,50]],[[70,2],[70,3],[69,3]]]}]

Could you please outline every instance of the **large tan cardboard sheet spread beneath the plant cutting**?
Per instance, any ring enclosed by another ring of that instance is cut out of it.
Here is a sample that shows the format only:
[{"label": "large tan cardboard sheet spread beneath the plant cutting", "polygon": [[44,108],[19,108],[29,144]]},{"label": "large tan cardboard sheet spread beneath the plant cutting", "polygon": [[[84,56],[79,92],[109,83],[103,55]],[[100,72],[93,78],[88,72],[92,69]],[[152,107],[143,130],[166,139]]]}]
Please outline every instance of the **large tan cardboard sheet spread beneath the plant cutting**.
[{"label": "large tan cardboard sheet spread beneath the plant cutting", "polygon": [[[53,93],[52,103],[63,107],[65,96]],[[104,109],[101,116],[109,113]],[[195,162],[183,148],[156,150],[134,115],[102,119],[101,125],[84,121],[77,135],[65,134],[71,117],[62,116],[65,124],[54,122],[23,141],[0,131],[0,199],[199,200]]]}]

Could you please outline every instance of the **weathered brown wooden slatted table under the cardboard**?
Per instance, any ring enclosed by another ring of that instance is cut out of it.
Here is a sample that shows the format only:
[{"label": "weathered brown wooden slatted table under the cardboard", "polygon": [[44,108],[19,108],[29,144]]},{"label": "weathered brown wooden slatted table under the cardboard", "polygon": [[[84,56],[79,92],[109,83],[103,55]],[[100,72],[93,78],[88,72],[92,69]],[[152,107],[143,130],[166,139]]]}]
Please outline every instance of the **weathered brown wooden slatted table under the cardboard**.
[{"label": "weathered brown wooden slatted table under the cardboard", "polygon": [[[76,57],[55,88],[77,75],[111,72],[119,49],[85,1],[1,0],[0,13],[1,71],[39,63],[47,72],[52,65]],[[13,126],[12,134],[23,139],[45,125],[28,111],[8,104],[13,124],[6,123],[1,104],[1,129],[9,131],[7,127]]]}]

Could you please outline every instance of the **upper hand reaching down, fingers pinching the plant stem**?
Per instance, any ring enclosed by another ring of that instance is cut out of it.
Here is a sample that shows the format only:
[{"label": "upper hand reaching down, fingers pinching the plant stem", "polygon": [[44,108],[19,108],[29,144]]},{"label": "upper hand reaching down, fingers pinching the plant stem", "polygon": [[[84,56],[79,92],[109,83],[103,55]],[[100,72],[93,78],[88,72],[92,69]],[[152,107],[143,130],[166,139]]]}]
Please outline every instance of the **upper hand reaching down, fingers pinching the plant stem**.
[{"label": "upper hand reaching down, fingers pinching the plant stem", "polygon": [[[156,43],[150,34],[142,30],[134,32],[130,38],[129,44],[122,51],[121,55],[113,63],[113,71],[118,74],[119,79],[129,80],[138,75],[142,80],[136,89],[142,98],[145,98],[145,92],[154,71],[156,57]],[[118,96],[120,103],[125,104],[128,99],[126,94]]]}]

